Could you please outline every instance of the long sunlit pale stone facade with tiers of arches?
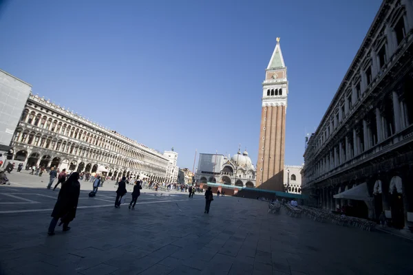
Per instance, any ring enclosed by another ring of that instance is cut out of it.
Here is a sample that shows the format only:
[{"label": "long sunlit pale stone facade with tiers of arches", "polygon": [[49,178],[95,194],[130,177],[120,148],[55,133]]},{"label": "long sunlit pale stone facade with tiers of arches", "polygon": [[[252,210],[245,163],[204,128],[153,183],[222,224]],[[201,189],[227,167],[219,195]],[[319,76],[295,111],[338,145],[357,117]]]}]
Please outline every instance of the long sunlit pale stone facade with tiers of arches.
[{"label": "long sunlit pale stone facade with tiers of arches", "polygon": [[96,172],[103,166],[109,176],[166,179],[168,159],[163,153],[32,94],[11,146],[14,159],[26,167],[35,164]]}]

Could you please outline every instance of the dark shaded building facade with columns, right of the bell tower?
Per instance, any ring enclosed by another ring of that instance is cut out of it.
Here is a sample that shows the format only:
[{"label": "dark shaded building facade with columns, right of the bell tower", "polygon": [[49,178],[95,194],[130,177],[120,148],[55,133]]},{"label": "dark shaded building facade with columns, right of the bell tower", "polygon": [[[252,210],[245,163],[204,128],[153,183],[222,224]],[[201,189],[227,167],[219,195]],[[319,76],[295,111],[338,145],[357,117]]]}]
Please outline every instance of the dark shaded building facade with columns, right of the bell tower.
[{"label": "dark shaded building facade with columns, right of the bell tower", "polygon": [[[411,225],[413,1],[383,1],[304,161],[302,190],[313,205],[352,206],[370,219],[385,211],[394,227]],[[365,199],[334,197],[364,186]]]}]

